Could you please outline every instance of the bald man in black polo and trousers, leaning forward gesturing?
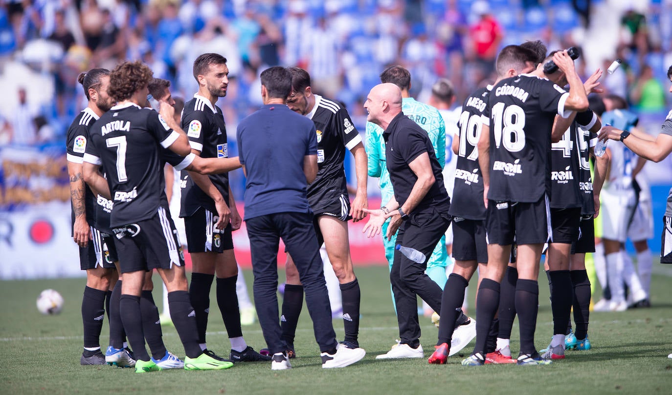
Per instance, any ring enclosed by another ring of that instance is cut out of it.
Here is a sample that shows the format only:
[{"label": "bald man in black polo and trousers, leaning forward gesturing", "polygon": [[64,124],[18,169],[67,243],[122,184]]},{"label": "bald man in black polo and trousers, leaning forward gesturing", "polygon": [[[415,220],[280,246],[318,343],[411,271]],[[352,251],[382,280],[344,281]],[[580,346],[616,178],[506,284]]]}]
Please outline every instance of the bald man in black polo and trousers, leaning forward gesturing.
[{"label": "bald man in black polo and trousers, leaning forward gesturing", "polygon": [[440,311],[442,289],[425,274],[425,269],[427,257],[450,225],[450,198],[427,132],[401,111],[399,88],[391,83],[376,85],[364,108],[369,113],[367,121],[384,130],[386,165],[394,190],[394,197],[385,206],[368,210],[371,219],[364,231],[373,237],[390,217],[386,237],[399,229],[396,247],[401,245],[421,254],[412,260],[415,257],[394,251],[390,282],[401,343],[378,358],[421,358],[424,354],[419,341],[416,295],[434,311]]}]

